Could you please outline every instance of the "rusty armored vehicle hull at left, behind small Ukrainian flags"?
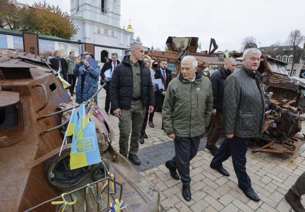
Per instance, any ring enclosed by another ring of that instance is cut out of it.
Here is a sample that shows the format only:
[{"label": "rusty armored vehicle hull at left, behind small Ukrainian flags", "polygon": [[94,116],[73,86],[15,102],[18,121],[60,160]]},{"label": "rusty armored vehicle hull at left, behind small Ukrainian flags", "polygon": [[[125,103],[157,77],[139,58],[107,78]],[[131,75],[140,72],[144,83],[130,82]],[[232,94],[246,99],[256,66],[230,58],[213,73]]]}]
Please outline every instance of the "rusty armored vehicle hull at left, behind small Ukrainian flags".
[{"label": "rusty armored vehicle hull at left, behind small Ukrainian flags", "polygon": [[[41,118],[57,112],[60,103],[71,102],[52,68],[39,56],[0,49],[0,211],[58,211],[62,204],[49,200],[61,201],[66,193],[71,202],[71,191],[77,201],[65,211],[83,211],[84,203],[87,211],[107,211],[115,199],[127,206],[122,211],[159,211],[159,192],[111,143],[101,154],[102,164],[75,170],[66,166],[70,144],[59,156],[60,114]],[[116,176],[117,193],[103,193],[98,203],[85,188],[93,185],[99,196],[103,183],[113,181],[106,170]]]}]

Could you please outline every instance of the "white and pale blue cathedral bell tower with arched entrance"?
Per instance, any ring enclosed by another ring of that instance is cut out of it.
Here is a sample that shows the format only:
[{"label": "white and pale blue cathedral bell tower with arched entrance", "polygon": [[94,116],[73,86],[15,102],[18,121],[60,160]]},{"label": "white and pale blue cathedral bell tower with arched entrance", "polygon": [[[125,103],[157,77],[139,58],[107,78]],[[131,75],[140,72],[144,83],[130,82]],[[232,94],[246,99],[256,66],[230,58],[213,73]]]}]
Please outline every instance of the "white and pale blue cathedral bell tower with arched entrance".
[{"label": "white and pale blue cathedral bell tower with arched entrance", "polygon": [[70,17],[79,28],[73,40],[114,47],[95,46],[95,59],[101,62],[112,52],[121,59],[124,52],[116,48],[130,48],[133,32],[120,27],[120,3],[121,0],[70,0]]}]

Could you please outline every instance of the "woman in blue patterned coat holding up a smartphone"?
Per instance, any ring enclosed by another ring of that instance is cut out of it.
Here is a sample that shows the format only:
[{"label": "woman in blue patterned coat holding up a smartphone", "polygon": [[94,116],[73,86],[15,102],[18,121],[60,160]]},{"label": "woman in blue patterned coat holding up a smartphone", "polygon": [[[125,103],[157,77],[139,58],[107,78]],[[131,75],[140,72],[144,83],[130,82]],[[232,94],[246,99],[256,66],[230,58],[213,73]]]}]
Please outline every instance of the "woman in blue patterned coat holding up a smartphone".
[{"label": "woman in blue patterned coat holding up a smartphone", "polygon": [[[80,56],[76,58],[76,65],[73,69],[73,75],[77,76],[77,85],[75,87],[76,100],[78,104],[83,103],[90,99],[98,90],[99,74],[101,67],[99,65],[94,69],[87,61],[87,59],[94,56],[91,53],[85,54],[85,59],[81,60]],[[84,65],[81,65],[81,62]],[[97,96],[94,98],[95,104],[97,105]]]}]

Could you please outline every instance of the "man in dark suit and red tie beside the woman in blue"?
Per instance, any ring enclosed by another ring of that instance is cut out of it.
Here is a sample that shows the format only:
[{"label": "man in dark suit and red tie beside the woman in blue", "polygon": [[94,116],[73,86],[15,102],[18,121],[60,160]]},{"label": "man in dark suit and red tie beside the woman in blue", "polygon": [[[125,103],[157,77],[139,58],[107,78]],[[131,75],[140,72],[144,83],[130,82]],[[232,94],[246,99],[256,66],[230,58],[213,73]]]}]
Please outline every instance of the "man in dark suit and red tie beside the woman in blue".
[{"label": "man in dark suit and red tie beside the woman in blue", "polygon": [[[104,87],[104,89],[106,90],[106,100],[105,100],[105,111],[108,114],[109,112],[109,108],[110,108],[110,93],[109,93],[109,86],[110,86],[110,81],[108,80],[108,77],[105,77],[105,71],[107,71],[108,69],[111,69],[111,71],[113,72],[114,68],[120,64],[120,61],[118,60],[118,55],[116,52],[111,53],[111,60],[109,60],[109,62],[106,62],[104,64],[104,66],[101,69],[101,85],[104,84],[104,82],[106,82],[106,86]],[[104,82],[103,82],[104,80]],[[110,114],[113,114],[113,110],[110,109]]]}]

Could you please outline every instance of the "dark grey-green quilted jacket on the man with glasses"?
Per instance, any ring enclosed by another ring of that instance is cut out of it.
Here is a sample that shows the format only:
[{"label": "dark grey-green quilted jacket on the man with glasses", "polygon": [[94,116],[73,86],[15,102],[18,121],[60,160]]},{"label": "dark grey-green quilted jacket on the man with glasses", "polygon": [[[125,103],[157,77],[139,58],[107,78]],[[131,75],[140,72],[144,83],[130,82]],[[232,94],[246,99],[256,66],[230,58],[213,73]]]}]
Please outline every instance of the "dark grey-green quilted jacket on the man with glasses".
[{"label": "dark grey-green quilted jacket on the man with glasses", "polygon": [[224,82],[224,133],[242,138],[257,137],[264,124],[264,91],[255,72],[243,65]]}]

